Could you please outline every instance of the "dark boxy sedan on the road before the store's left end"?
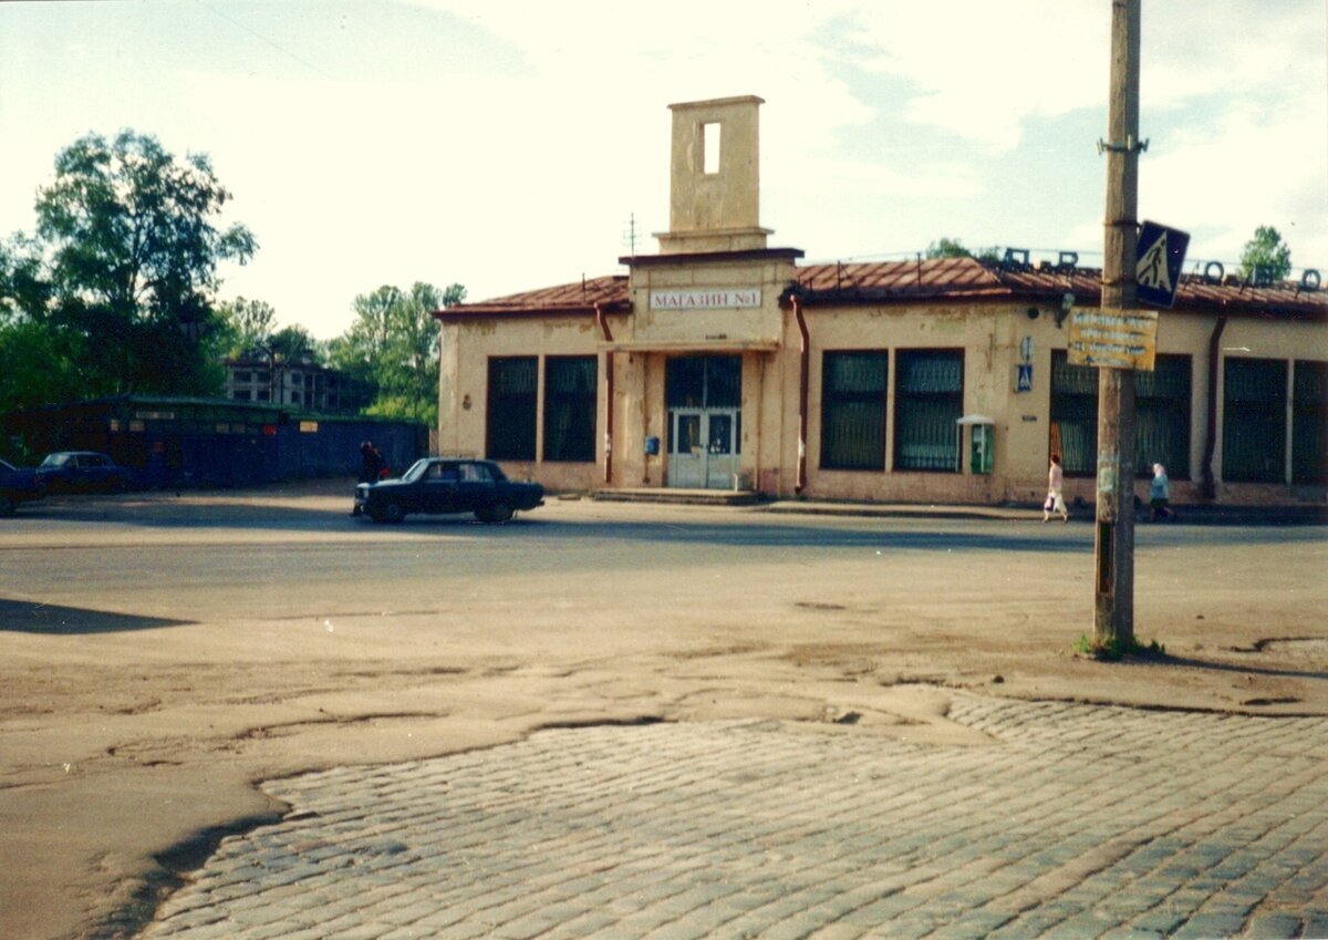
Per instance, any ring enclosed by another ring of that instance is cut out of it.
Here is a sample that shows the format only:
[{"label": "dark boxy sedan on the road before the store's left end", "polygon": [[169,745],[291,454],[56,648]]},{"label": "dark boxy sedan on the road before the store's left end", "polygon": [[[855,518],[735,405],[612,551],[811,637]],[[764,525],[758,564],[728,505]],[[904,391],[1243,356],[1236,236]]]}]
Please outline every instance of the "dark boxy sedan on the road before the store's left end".
[{"label": "dark boxy sedan on the road before the store's left end", "polygon": [[544,487],[521,483],[493,461],[426,457],[397,479],[355,487],[355,514],[401,522],[410,512],[474,512],[479,522],[507,522],[544,505]]}]

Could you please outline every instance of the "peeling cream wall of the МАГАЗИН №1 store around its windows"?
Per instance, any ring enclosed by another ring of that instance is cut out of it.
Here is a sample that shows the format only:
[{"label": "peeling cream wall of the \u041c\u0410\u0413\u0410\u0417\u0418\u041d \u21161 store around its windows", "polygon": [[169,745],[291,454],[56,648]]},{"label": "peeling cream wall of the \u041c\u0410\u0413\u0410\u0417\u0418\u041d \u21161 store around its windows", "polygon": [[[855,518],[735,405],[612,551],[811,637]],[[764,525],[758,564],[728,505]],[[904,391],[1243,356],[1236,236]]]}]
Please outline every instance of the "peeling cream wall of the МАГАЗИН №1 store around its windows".
[{"label": "peeling cream wall of the \u041c\u0410\u0413\u0410\u0417\u0418\u041d \u21161 store around its windows", "polygon": [[[615,315],[608,323],[618,341],[668,337],[703,341],[710,331],[733,339],[762,337],[778,344],[774,352],[742,353],[742,457],[741,470],[764,493],[793,497],[798,466],[798,388],[799,335],[791,311],[776,305],[776,285],[782,289],[781,266],[701,266],[688,271],[652,271],[637,288],[637,311],[648,285],[750,285],[758,277],[764,305],[757,311],[671,311],[643,316]],[[754,274],[753,274],[754,272]],[[1028,304],[950,304],[915,308],[817,308],[806,309],[810,333],[807,388],[807,486],[805,497],[871,502],[1040,502],[1045,493],[1049,447],[1050,360],[1064,351],[1068,321],[1057,327],[1052,311],[1040,307],[1029,319]],[[1191,357],[1191,438],[1187,474],[1173,470],[1173,499],[1178,503],[1199,499],[1202,458],[1207,421],[1207,351],[1215,324],[1212,316],[1162,312],[1158,352]],[[1020,343],[1033,341],[1033,388],[1016,393]],[[493,321],[448,323],[442,328],[440,366],[440,449],[444,453],[482,454],[487,360],[490,356],[559,356],[598,353],[600,388],[608,353],[603,336],[591,317],[503,319]],[[1328,331],[1323,324],[1278,323],[1231,319],[1222,336],[1226,356],[1263,358],[1308,358],[1328,361]],[[951,348],[964,351],[965,414],[995,420],[996,459],[991,475],[973,475],[968,467],[968,437],[963,442],[964,471],[903,473],[888,467],[894,462],[894,376],[895,353],[911,348]],[[1248,348],[1250,352],[1236,352]],[[826,351],[887,349],[887,454],[884,471],[858,473],[821,470],[821,366]],[[701,352],[701,349],[697,349]],[[680,353],[675,353],[680,354]],[[647,457],[648,435],[667,441],[664,374],[668,353],[616,352],[614,404],[614,486],[663,486],[667,454]],[[543,368],[543,362],[540,364]],[[1222,369],[1219,364],[1218,381]],[[542,373],[540,373],[542,377]],[[540,380],[540,394],[543,381]],[[1219,409],[1220,409],[1220,388]],[[470,406],[466,406],[469,397]],[[1289,408],[1289,406],[1288,406]],[[599,433],[603,442],[606,401],[599,404]],[[543,414],[543,401],[539,402]],[[1219,416],[1220,417],[1220,416]],[[1222,442],[1215,443],[1214,471],[1220,479]],[[537,429],[537,453],[542,453],[543,428]],[[663,447],[661,447],[663,450]],[[551,490],[587,490],[603,486],[604,455],[596,463],[560,465],[534,461],[507,463],[517,477],[534,477]],[[1068,499],[1094,499],[1092,478],[1066,481]],[[1147,497],[1147,481],[1137,482],[1137,493]],[[1219,501],[1239,503],[1286,503],[1323,499],[1323,487],[1288,485],[1219,485]]]}]

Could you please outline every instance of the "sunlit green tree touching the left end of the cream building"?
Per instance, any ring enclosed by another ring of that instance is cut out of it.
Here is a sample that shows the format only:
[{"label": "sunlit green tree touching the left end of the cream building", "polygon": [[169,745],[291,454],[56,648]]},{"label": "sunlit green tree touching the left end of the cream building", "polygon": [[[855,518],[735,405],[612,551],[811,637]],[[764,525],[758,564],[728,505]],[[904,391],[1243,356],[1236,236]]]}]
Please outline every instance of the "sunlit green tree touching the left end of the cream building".
[{"label": "sunlit green tree touching the left end of the cream building", "polygon": [[466,288],[416,281],[384,284],[355,299],[356,320],[332,340],[331,364],[373,389],[371,414],[433,425],[438,420],[438,323],[433,312],[461,303]]}]

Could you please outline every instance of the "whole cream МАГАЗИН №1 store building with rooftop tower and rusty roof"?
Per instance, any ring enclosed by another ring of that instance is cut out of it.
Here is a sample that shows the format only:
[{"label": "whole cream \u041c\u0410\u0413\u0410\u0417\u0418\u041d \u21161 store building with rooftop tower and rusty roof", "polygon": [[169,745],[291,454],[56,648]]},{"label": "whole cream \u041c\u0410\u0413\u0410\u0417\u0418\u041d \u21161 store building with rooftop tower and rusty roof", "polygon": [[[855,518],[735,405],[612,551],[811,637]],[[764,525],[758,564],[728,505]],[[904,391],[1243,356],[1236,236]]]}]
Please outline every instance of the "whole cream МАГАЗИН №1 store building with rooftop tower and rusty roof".
[{"label": "whole cream \u041c\u0410\u0413\u0410\u0417\u0418\u041d \u21161 store building with rooftop tower and rusty roof", "polygon": [[[1097,372],[1068,354],[1101,272],[1072,254],[802,264],[758,222],[760,98],[673,105],[669,231],[627,276],[438,311],[440,449],[550,489],[746,489],[843,501],[1040,502],[1096,486]],[[1328,297],[1317,272],[1210,270],[1137,373],[1138,493],[1323,502]]]}]

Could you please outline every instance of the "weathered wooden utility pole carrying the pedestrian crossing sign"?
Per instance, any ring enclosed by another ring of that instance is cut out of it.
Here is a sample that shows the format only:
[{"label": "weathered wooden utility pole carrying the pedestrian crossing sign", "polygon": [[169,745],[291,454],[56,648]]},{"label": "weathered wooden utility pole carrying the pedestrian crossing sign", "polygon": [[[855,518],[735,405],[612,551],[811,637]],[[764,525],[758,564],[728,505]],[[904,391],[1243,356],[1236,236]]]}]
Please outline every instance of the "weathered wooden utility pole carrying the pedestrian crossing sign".
[{"label": "weathered wooden utility pole carrying the pedestrian crossing sign", "polygon": [[[1139,5],[1112,3],[1102,311],[1137,304]],[[1134,643],[1134,372],[1098,369],[1093,644]]]}]

